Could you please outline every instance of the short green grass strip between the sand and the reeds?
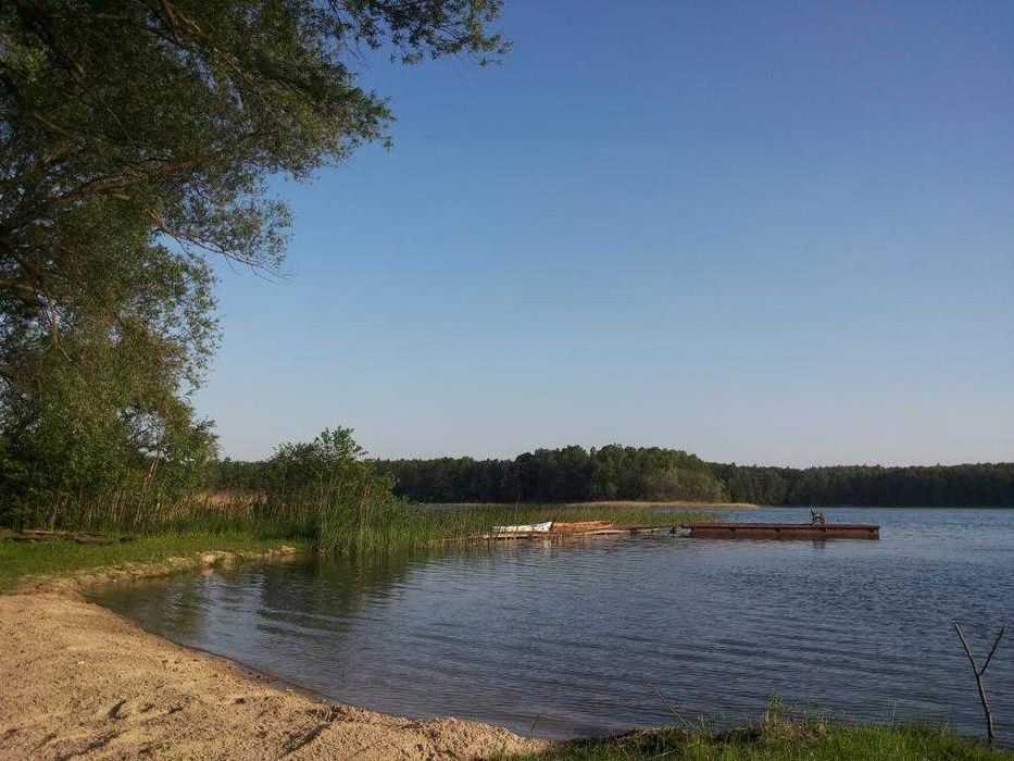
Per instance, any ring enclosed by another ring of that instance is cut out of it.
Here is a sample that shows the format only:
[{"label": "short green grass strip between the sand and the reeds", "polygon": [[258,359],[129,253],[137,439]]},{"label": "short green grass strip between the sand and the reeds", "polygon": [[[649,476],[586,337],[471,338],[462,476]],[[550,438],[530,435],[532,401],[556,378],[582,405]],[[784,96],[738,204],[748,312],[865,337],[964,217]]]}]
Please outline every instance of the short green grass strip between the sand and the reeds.
[{"label": "short green grass strip between the sand and the reeds", "polygon": [[10,589],[23,576],[61,576],[126,563],[157,563],[167,558],[212,550],[265,552],[281,544],[305,548],[305,544],[283,542],[249,532],[171,532],[113,545],[78,545],[63,540],[0,541],[0,589]]}]

